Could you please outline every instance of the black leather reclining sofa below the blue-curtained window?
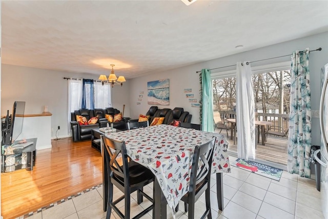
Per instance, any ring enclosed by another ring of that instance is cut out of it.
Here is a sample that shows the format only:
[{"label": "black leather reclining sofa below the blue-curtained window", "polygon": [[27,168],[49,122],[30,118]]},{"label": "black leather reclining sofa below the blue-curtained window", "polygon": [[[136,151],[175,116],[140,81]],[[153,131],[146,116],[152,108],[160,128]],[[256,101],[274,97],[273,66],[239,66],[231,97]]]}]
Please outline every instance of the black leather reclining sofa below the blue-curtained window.
[{"label": "black leather reclining sofa below the blue-curtained window", "polygon": [[[106,114],[110,114],[114,117],[114,115],[118,113],[120,113],[120,111],[113,107],[109,107],[106,109],[98,108],[93,110],[89,110],[89,109],[74,110],[74,112],[71,113],[71,129],[72,129],[73,142],[81,141],[81,140],[90,140],[92,129],[104,128],[109,123],[106,118]],[[98,122],[93,125],[79,125],[78,122],[76,122],[76,115],[84,116],[87,118],[87,120],[89,120],[91,117],[98,115]],[[126,130],[126,120],[123,118],[123,120],[120,122],[114,122],[113,128],[119,130]]]}]

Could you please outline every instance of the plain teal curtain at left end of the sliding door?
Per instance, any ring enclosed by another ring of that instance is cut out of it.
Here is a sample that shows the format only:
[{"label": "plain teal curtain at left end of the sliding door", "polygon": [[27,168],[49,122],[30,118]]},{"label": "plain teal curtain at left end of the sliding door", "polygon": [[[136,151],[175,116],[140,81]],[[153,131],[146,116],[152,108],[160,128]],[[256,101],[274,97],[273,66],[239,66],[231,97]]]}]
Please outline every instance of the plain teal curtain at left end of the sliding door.
[{"label": "plain teal curtain at left end of the sliding door", "polygon": [[213,118],[213,88],[211,71],[209,69],[201,70],[201,121],[203,131],[214,132]]}]

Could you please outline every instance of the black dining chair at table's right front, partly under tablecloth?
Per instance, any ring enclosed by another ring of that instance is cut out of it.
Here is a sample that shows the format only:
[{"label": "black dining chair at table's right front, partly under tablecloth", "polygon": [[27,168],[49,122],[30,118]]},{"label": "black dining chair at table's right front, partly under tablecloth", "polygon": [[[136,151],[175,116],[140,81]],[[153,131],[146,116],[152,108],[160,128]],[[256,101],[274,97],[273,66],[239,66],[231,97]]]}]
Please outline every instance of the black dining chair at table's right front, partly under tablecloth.
[{"label": "black dining chair at table's right front, partly under tablecloth", "polygon": [[[195,218],[195,203],[204,192],[206,199],[206,211],[200,218],[212,218],[210,185],[215,141],[216,137],[213,137],[211,141],[195,147],[190,172],[189,191],[181,198],[181,201],[185,202],[185,211],[188,212],[188,219]],[[201,162],[201,166],[199,165],[199,162]],[[178,209],[176,208],[175,210],[177,211]]]}]

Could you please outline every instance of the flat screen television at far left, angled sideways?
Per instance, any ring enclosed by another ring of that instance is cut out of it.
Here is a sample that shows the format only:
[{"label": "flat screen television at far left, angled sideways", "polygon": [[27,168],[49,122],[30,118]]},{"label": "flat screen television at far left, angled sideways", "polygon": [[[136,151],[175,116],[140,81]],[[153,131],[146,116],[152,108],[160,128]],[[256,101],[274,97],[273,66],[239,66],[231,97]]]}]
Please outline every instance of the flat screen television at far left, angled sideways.
[{"label": "flat screen television at far left, angled sideways", "polygon": [[9,115],[9,110],[7,111],[5,122],[2,124],[3,145],[11,145],[17,140],[20,133],[22,133],[24,112],[24,101],[14,102],[11,115]]}]

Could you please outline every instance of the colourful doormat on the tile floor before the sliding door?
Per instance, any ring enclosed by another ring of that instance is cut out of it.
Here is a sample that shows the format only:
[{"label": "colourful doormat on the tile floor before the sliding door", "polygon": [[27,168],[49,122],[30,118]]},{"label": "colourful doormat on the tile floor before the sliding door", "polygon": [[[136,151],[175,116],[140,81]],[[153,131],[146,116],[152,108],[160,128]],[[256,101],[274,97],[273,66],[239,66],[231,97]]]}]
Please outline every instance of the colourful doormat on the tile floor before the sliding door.
[{"label": "colourful doormat on the tile floor before the sliding door", "polygon": [[243,170],[247,170],[268,178],[271,178],[272,180],[280,181],[280,177],[282,174],[282,170],[270,167],[268,165],[259,164],[254,161],[245,161],[243,159],[237,158],[236,161],[230,162],[231,165],[241,168]]}]

